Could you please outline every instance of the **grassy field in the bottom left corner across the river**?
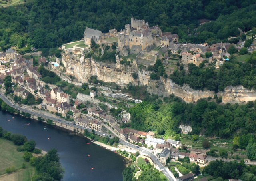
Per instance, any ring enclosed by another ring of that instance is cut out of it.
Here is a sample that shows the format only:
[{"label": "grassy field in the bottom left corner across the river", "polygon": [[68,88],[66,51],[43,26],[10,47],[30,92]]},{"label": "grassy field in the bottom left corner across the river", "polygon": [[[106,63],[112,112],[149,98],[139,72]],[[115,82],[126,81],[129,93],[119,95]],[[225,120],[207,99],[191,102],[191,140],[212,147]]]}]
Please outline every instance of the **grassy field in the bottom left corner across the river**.
[{"label": "grassy field in the bottom left corner across the river", "polygon": [[[31,180],[35,173],[35,168],[30,166],[22,158],[24,153],[16,151],[17,146],[11,141],[0,138],[0,180],[1,181],[18,181]],[[26,164],[26,168],[22,169],[22,164]],[[11,174],[4,174],[6,168],[15,167],[16,171]]]}]

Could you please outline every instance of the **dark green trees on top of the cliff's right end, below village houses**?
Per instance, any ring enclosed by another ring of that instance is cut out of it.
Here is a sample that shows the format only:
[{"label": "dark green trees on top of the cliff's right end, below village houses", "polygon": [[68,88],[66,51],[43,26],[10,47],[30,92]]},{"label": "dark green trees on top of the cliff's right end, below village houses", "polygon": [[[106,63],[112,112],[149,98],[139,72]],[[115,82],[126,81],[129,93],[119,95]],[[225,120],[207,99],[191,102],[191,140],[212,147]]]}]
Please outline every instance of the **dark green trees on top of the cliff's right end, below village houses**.
[{"label": "dark green trees on top of the cliff's right end, below village houses", "polygon": [[215,92],[224,91],[224,88],[230,85],[256,89],[256,52],[244,62],[231,56],[230,61],[220,66],[218,71],[214,66],[200,68],[195,64],[188,64],[188,74],[184,70],[175,70],[170,78],[180,86],[185,83],[193,89],[206,88]]}]

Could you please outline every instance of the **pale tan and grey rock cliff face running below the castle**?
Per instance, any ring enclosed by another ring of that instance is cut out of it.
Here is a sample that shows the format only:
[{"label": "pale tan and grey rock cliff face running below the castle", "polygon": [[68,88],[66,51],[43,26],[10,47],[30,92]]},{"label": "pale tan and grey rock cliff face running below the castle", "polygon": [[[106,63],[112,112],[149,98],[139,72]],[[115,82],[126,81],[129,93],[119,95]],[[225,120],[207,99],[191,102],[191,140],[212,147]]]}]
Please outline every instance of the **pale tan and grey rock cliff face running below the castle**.
[{"label": "pale tan and grey rock cliff face running below the castle", "polygon": [[[79,52],[75,52],[79,53]],[[62,54],[62,63],[67,72],[72,72],[81,82],[86,82],[90,76],[96,75],[99,80],[104,82],[115,82],[120,86],[125,86],[129,82],[134,85],[147,85],[149,93],[168,96],[171,93],[182,98],[186,102],[197,101],[200,98],[213,97],[214,91],[209,90],[193,90],[188,85],[179,86],[170,79],[150,80],[150,72],[139,70],[136,61],[130,66],[120,64],[116,60],[116,64],[96,62],[92,58],[84,58],[83,55],[79,58],[76,54]],[[138,78],[134,80],[132,73],[136,72]],[[243,101],[256,100],[256,91],[247,90],[243,86],[228,86],[223,92],[218,92],[218,96],[222,96],[222,102],[236,103]]]}]

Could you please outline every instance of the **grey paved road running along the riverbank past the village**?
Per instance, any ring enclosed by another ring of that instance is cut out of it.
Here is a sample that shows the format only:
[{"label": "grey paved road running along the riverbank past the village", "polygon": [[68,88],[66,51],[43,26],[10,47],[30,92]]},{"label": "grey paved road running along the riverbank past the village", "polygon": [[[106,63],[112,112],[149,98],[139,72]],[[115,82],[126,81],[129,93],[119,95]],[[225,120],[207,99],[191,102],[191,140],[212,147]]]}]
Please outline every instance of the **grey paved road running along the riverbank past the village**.
[{"label": "grey paved road running along the riverbank past the village", "polygon": [[[7,103],[10,107],[13,107],[15,109],[18,109],[22,112],[25,112],[25,113],[30,113],[31,115],[36,115],[36,116],[39,116],[39,117],[43,117],[45,119],[50,119],[52,121],[59,121],[61,120],[61,122],[63,124],[66,124],[66,125],[69,125],[71,127],[74,127],[74,128],[81,128],[81,129],[84,129],[84,127],[80,126],[80,125],[73,125],[72,123],[68,123],[67,121],[63,120],[63,119],[57,119],[57,118],[54,118],[54,117],[50,117],[50,116],[47,116],[47,115],[44,115],[44,114],[41,114],[41,113],[35,113],[35,112],[32,112],[32,109],[28,110],[28,109],[24,109],[22,107],[19,107],[17,105],[12,105],[12,102],[6,98],[3,93],[0,93],[0,98],[5,102]],[[92,130],[90,128],[87,128],[88,131],[92,132]],[[97,135],[100,135],[100,136],[104,136],[102,132],[99,132],[99,131],[96,131],[94,130],[94,133],[97,134]],[[132,147],[133,149],[135,150],[138,150],[138,151],[143,151],[143,148],[141,147],[136,147],[136,145],[132,144],[132,143],[129,143],[128,141],[125,141],[121,138],[119,138],[120,140],[120,143],[123,144],[123,145],[126,145],[126,146],[129,146],[129,147]],[[160,161],[158,160],[158,158],[156,157],[156,155],[154,155],[150,149],[146,149],[143,153],[145,153],[146,155],[148,155],[152,161],[161,169],[161,171],[164,173],[164,175],[167,177],[167,179],[169,181],[174,181],[174,179],[170,176],[170,174],[166,171],[166,169],[164,168],[164,166],[160,163]]]}]

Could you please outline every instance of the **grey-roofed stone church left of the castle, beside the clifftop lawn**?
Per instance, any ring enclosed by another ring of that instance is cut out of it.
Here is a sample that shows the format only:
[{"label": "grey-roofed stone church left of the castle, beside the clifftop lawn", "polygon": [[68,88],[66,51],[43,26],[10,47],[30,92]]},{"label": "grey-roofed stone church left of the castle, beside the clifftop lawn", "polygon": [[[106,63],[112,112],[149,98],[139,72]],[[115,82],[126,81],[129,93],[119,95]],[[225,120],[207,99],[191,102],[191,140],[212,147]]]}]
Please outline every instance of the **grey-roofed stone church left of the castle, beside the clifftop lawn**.
[{"label": "grey-roofed stone church left of the castle, beside the clifftop lawn", "polygon": [[92,40],[94,40],[96,44],[100,44],[103,38],[104,35],[101,31],[94,30],[86,26],[86,29],[84,30],[84,44],[91,45]]}]

